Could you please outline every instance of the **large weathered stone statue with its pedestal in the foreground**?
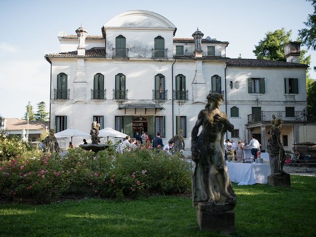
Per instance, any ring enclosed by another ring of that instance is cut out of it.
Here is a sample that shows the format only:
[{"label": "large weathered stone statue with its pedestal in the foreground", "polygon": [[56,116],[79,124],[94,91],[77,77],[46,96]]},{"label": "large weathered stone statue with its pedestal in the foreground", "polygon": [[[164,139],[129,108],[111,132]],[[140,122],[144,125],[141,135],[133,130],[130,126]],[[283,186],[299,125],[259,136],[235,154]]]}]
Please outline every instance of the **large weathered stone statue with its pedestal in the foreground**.
[{"label": "large weathered stone statue with its pedestal in the foreground", "polygon": [[[193,204],[201,230],[233,232],[237,197],[224,159],[224,134],[234,131],[227,115],[219,110],[223,96],[207,95],[208,103],[192,129],[191,151],[195,161],[192,176]],[[199,127],[202,126],[200,135]]]}]

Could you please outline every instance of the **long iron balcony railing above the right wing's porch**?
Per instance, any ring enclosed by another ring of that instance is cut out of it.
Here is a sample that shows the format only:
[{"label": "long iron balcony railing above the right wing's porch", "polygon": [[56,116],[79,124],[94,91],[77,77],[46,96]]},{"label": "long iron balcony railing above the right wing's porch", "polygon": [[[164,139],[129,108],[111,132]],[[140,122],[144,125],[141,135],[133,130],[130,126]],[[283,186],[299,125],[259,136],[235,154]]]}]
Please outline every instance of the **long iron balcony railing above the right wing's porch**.
[{"label": "long iron balcony railing above the right wing's porch", "polygon": [[248,115],[248,123],[252,122],[271,122],[274,119],[282,119],[284,122],[312,121],[312,116],[307,116],[302,120],[303,111],[261,111]]}]

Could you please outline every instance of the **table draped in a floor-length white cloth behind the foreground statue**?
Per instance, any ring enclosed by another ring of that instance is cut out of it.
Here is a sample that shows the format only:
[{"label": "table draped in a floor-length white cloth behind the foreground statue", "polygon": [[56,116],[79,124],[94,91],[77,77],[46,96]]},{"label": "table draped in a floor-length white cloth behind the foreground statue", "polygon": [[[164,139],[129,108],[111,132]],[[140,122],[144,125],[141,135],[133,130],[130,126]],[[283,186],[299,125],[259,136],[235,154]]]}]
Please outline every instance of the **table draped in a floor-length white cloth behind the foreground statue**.
[{"label": "table draped in a floor-length white cloth behind the foreground statue", "polygon": [[270,164],[226,163],[231,181],[238,185],[266,184],[271,175]]}]

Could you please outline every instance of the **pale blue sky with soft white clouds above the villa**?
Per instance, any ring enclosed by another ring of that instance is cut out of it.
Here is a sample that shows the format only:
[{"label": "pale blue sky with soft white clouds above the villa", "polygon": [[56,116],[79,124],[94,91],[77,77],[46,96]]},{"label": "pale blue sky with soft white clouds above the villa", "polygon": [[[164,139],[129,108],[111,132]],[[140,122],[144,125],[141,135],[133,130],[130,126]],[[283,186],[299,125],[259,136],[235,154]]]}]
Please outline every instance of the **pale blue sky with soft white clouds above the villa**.
[{"label": "pale blue sky with soft white clouds above the villa", "polygon": [[[191,38],[198,27],[204,38],[229,41],[231,58],[256,58],[255,45],[282,27],[296,40],[313,13],[306,0],[0,0],[0,116],[24,117],[29,101],[35,113],[41,101],[49,111],[50,64],[44,55],[60,52],[58,32],[75,35],[82,24],[88,35],[101,35],[112,17],[135,9],[167,18],[177,27],[176,38]],[[316,52],[308,54],[316,79]]]}]

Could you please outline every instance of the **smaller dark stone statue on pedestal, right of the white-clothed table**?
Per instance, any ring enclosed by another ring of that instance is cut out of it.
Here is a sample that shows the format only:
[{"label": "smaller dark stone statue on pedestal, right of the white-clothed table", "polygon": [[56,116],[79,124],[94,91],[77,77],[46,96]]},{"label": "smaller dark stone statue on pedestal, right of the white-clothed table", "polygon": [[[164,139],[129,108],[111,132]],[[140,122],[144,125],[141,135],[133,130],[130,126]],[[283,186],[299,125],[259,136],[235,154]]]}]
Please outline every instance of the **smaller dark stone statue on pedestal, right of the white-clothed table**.
[{"label": "smaller dark stone statue on pedestal, right of the white-clothed table", "polygon": [[283,171],[285,163],[285,151],[280,139],[280,127],[282,120],[276,119],[272,121],[272,126],[268,131],[270,138],[267,144],[267,150],[270,159],[271,175],[268,176],[268,184],[270,186],[290,187],[290,175]]}]

